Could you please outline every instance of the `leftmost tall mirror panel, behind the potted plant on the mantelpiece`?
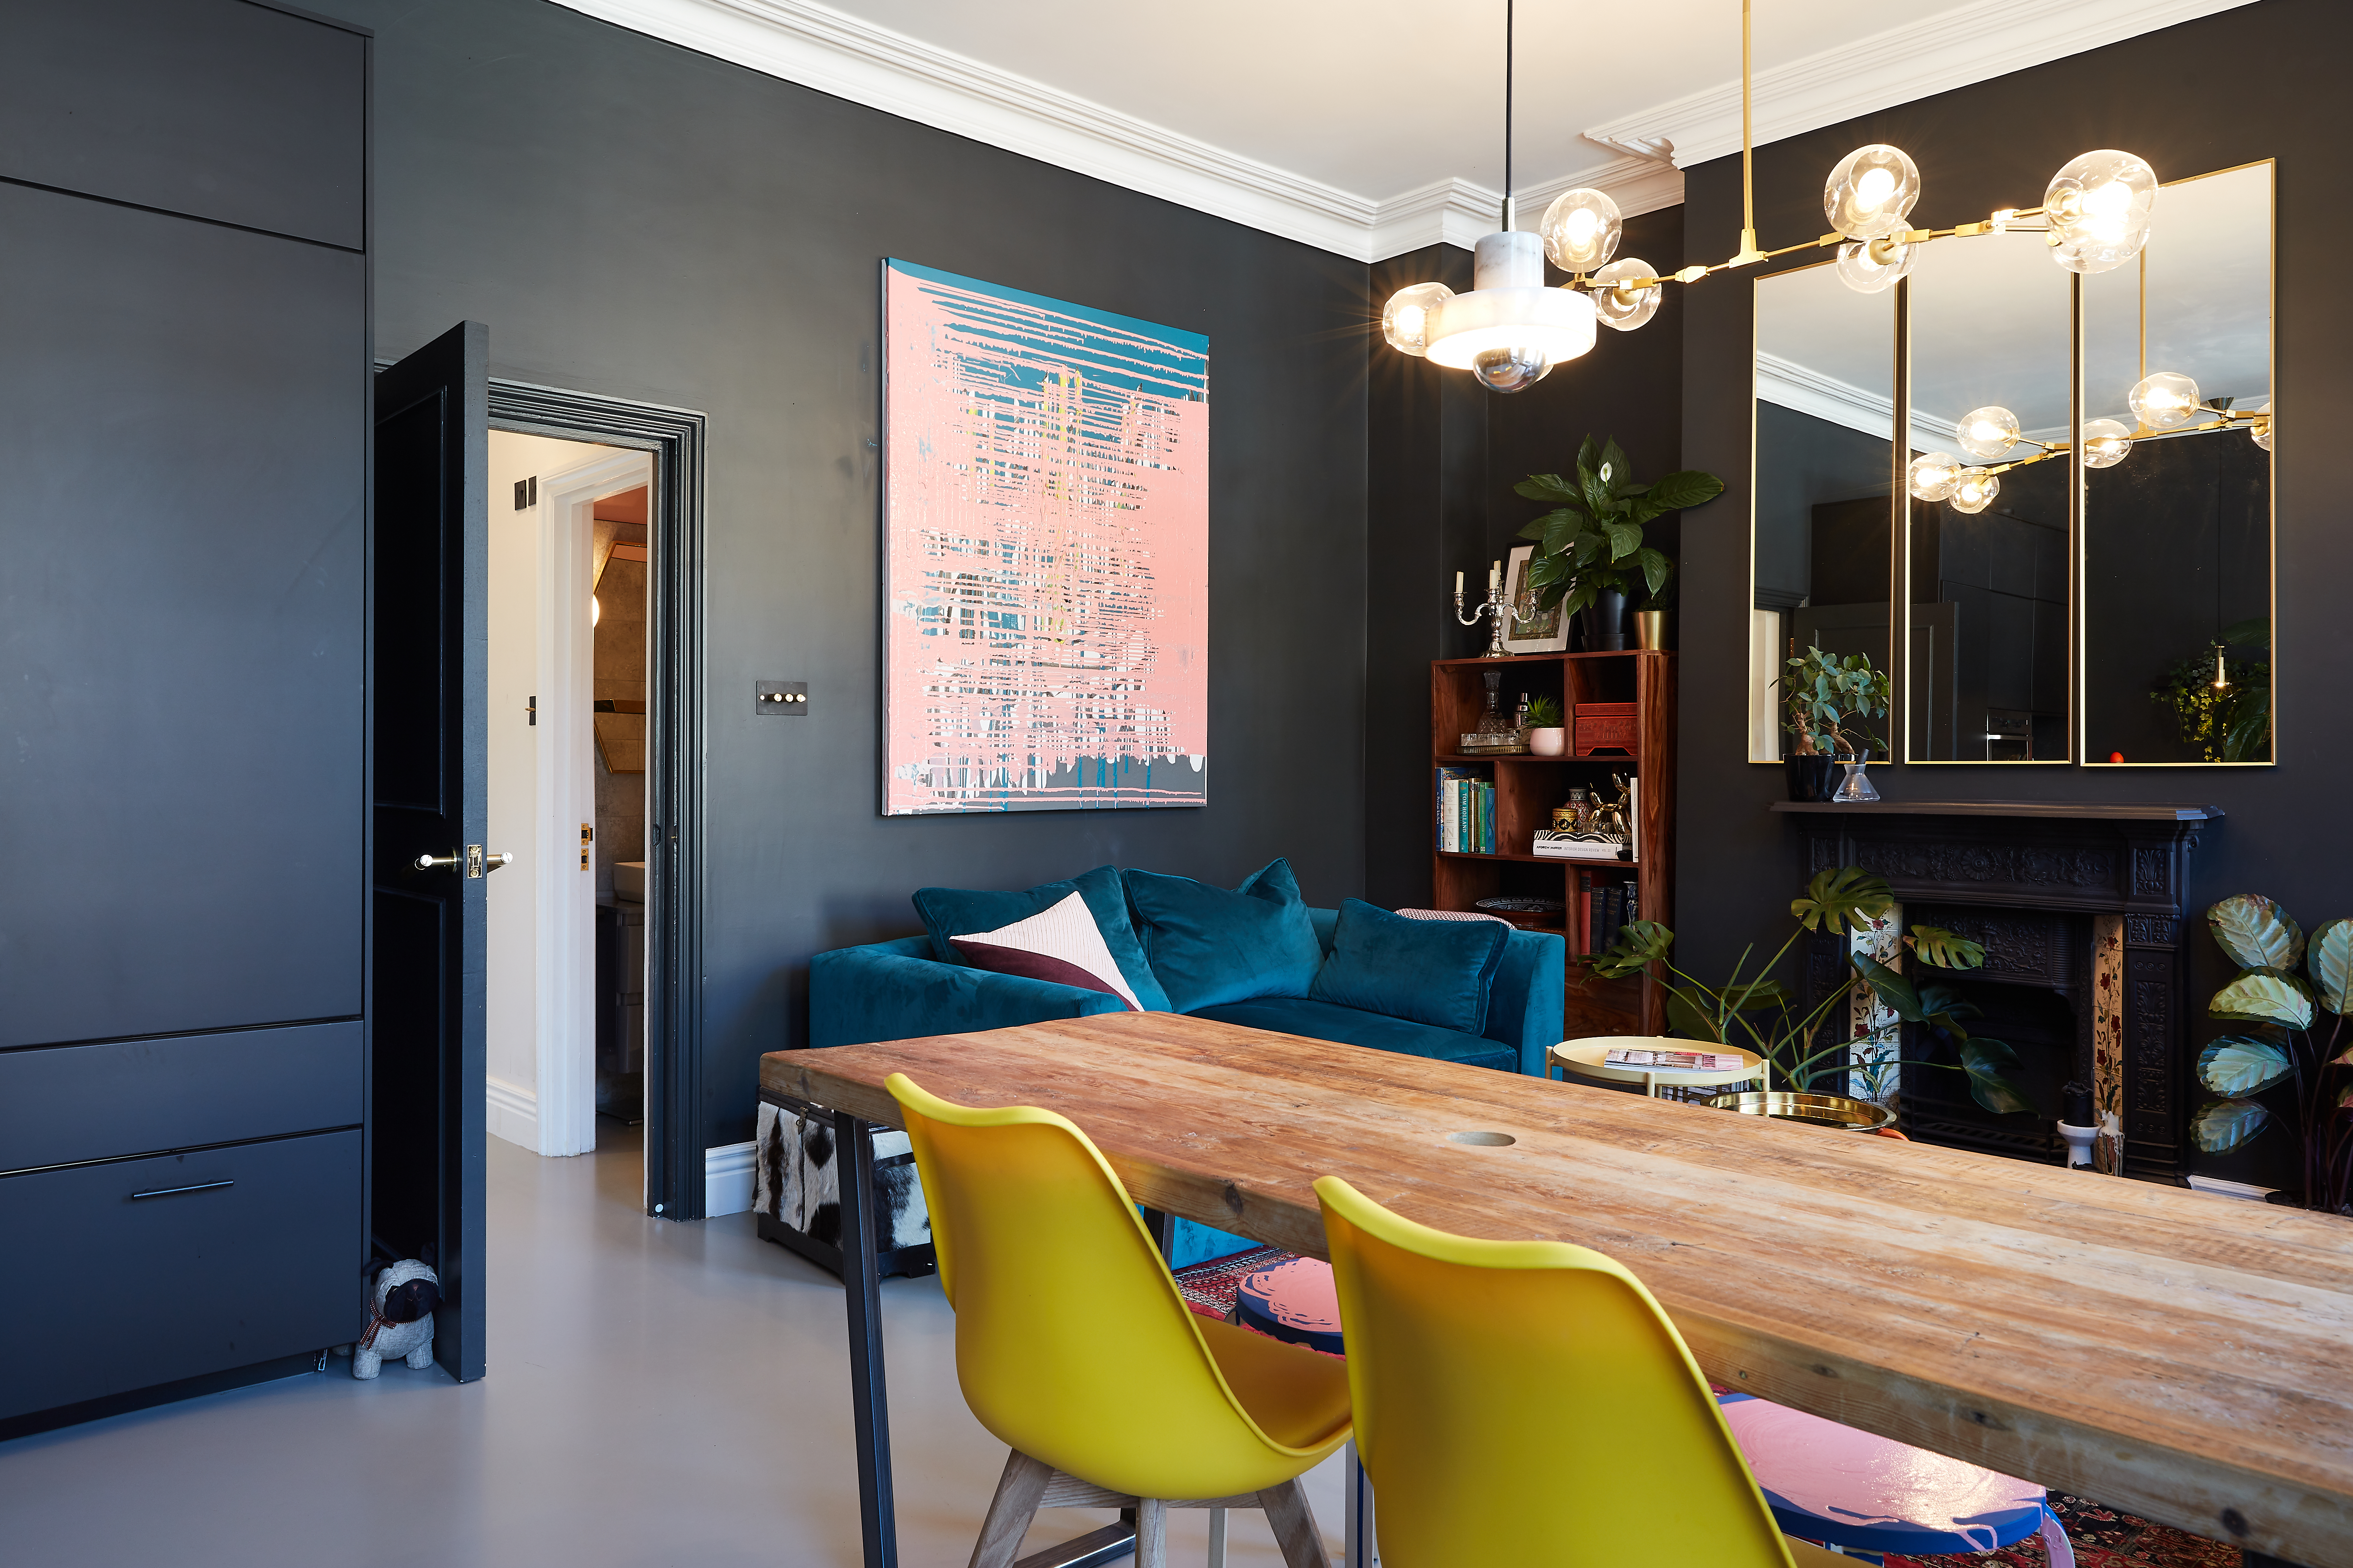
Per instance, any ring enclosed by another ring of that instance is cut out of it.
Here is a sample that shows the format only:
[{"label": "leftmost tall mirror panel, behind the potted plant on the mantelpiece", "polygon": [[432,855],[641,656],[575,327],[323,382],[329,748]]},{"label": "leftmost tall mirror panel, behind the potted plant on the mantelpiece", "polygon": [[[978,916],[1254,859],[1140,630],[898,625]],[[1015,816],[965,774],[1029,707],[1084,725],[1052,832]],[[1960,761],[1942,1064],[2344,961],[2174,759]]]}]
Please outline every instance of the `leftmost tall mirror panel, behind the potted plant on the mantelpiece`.
[{"label": "leftmost tall mirror panel, behind the potted plant on the mantelpiece", "polygon": [[1781,762],[1798,755],[1779,691],[1793,656],[1892,668],[1897,292],[1812,266],[1758,277],[1753,299],[1748,759]]}]

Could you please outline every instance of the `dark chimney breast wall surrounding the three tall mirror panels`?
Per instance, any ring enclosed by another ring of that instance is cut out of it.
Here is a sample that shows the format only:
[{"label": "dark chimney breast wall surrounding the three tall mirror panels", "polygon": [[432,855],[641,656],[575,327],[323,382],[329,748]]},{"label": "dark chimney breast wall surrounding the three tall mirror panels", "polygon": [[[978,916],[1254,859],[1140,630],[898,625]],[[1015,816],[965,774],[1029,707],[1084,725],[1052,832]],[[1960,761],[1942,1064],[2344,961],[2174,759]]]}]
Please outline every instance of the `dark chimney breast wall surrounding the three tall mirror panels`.
[{"label": "dark chimney breast wall surrounding the three tall mirror panels", "polygon": [[[2165,179],[2280,160],[2275,386],[2287,423],[2278,461],[2278,769],[1889,766],[1873,776],[1882,795],[1915,799],[2212,802],[2228,820],[2191,858],[2195,907],[2261,891],[2306,929],[2353,910],[2339,809],[2353,771],[2353,731],[2341,719],[2353,679],[2353,639],[2341,630],[2353,536],[2327,435],[2353,418],[2353,390],[2337,374],[2353,353],[2353,299],[2341,282],[2353,172],[2334,153],[2348,49],[2346,7],[2261,0],[1755,155],[1767,247],[1821,230],[1821,181],[1866,141],[1892,141],[1918,160],[1925,195],[1913,223],[1927,226],[2035,205],[2049,176],[2092,148],[2129,148]],[[1737,249],[1739,158],[1689,172],[1685,214],[1694,259]],[[1800,867],[1781,820],[1767,816],[1781,771],[1741,762],[1748,301],[1741,280],[1711,277],[1692,284],[1685,303],[1682,458],[1732,482],[1722,501],[1685,520],[1678,912],[1682,957],[1697,973],[1729,969],[1741,943],[1779,940]],[[2226,973],[2205,938],[2193,938],[2191,952],[2202,999]]]}]

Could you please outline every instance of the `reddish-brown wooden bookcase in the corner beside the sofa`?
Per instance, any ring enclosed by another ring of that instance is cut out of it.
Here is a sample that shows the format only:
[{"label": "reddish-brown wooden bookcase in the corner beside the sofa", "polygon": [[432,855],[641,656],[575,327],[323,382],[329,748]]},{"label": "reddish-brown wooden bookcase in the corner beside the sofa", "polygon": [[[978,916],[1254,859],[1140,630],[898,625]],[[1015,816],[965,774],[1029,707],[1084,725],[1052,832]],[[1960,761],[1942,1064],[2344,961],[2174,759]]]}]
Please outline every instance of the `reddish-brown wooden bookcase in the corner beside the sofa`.
[{"label": "reddish-brown wooden bookcase in the corner beside the sofa", "polygon": [[[1501,670],[1501,708],[1506,719],[1520,693],[1548,696],[1560,703],[1569,729],[1569,752],[1577,738],[1577,703],[1635,703],[1633,752],[1595,757],[1487,757],[1461,755],[1461,736],[1478,729],[1487,710],[1487,672]],[[1438,769],[1466,766],[1494,778],[1497,853],[1454,853],[1438,849]],[[1638,860],[1551,860],[1532,853],[1539,827],[1551,827],[1553,806],[1569,799],[1572,785],[1609,795],[1609,776],[1628,773],[1642,780],[1638,790]],[[1431,835],[1431,903],[1440,910],[1471,910],[1480,898],[1525,896],[1558,898],[1567,917],[1513,914],[1529,931],[1558,931],[1569,943],[1567,1039],[1584,1034],[1666,1034],[1666,987],[1654,976],[1626,980],[1593,978],[1577,929],[1577,872],[1605,872],[1635,884],[1640,917],[1675,924],[1675,656],[1659,651],[1624,654],[1520,654],[1515,658],[1440,658],[1431,663],[1431,766],[1424,780],[1431,792],[1426,832]],[[1595,933],[1600,947],[1607,936]]]}]

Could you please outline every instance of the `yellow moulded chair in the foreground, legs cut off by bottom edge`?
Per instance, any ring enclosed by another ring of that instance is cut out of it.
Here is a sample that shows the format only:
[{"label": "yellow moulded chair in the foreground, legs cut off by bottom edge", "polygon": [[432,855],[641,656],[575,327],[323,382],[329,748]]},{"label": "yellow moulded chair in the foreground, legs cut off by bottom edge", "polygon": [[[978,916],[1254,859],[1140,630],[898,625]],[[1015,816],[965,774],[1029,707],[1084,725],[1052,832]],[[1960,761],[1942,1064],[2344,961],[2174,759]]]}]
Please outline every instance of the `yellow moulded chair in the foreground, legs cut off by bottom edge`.
[{"label": "yellow moulded chair in the foreground, legs cut off by bottom edge", "polygon": [[1327,1175],[1355,1448],[1384,1568],[1812,1568],[1642,1281],[1567,1241],[1473,1241]]}]

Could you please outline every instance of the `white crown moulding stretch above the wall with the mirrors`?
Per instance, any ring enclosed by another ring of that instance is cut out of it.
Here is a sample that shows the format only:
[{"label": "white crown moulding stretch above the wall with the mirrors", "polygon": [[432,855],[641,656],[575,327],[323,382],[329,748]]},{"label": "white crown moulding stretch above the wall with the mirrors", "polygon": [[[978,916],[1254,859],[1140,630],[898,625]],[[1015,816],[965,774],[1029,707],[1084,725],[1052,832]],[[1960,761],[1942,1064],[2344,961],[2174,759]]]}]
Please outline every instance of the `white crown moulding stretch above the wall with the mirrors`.
[{"label": "white crown moulding stretch above the wall with the mirrors", "polygon": [[[2252,0],[1969,0],[1755,75],[1755,143],[1986,82]],[[1659,141],[1692,167],[1741,150],[1741,85],[1609,120],[1595,141]]]}]

